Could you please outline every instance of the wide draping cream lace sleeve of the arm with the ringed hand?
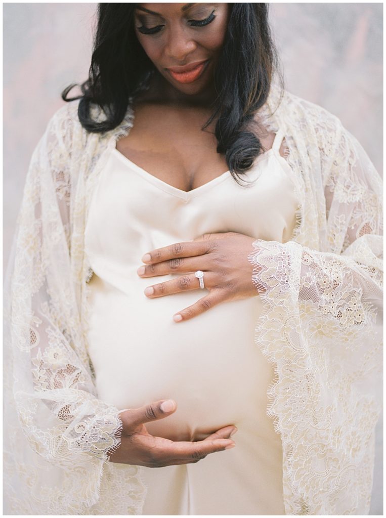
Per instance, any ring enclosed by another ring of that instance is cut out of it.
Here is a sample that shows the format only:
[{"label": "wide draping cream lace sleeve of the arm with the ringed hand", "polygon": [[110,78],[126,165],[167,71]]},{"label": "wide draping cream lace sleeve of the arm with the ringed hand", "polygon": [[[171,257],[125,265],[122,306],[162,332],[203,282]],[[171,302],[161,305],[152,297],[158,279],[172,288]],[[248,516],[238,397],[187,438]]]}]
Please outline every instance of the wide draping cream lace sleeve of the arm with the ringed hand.
[{"label": "wide draping cream lace sleeve of the arm with the ringed hand", "polygon": [[249,256],[265,308],[256,343],[275,363],[268,415],[282,436],[287,514],[367,514],[370,506],[381,409],[382,188],[349,132],[340,126],[334,141],[320,151],[326,249],[256,240]]}]

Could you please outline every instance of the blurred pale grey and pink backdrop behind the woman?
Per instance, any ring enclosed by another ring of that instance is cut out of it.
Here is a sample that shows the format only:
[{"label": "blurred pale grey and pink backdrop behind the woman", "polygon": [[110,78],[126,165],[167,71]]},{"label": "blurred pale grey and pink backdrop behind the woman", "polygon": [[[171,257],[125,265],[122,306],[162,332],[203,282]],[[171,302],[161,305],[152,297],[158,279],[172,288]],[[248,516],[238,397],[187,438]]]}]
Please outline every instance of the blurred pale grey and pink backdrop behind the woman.
[{"label": "blurred pale grey and pink backdrop behind the woman", "polygon": [[[87,78],[96,5],[3,4],[4,267],[31,154],[70,82]],[[382,172],[382,3],[271,3],[291,93],[340,118]],[[370,514],[382,514],[382,420]]]}]

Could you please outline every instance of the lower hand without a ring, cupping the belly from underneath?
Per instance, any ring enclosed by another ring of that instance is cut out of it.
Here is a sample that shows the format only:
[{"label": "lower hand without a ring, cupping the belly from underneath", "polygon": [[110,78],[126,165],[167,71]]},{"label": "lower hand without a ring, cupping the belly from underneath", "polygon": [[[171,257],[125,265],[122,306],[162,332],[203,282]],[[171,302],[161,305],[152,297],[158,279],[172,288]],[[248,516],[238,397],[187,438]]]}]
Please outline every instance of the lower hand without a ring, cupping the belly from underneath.
[{"label": "lower hand without a ring, cupping the belly from underneath", "polygon": [[[162,404],[165,407],[162,408]],[[109,453],[110,462],[161,468],[177,464],[193,464],[208,453],[219,452],[235,446],[229,439],[236,426],[220,428],[202,441],[171,441],[150,435],[144,423],[166,418],[175,412],[175,401],[167,399],[140,408],[122,411],[123,424],[121,445]]]}]

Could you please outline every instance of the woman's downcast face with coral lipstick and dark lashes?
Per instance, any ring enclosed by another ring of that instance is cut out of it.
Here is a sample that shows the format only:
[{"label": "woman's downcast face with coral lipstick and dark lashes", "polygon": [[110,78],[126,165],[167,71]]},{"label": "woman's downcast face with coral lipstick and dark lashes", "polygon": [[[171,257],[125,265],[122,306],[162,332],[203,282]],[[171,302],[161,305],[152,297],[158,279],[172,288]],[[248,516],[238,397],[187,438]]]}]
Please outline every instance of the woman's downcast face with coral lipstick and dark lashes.
[{"label": "woman's downcast face with coral lipstick and dark lashes", "polygon": [[228,23],[228,4],[137,4],[135,32],[159,73],[179,92],[213,84]]}]

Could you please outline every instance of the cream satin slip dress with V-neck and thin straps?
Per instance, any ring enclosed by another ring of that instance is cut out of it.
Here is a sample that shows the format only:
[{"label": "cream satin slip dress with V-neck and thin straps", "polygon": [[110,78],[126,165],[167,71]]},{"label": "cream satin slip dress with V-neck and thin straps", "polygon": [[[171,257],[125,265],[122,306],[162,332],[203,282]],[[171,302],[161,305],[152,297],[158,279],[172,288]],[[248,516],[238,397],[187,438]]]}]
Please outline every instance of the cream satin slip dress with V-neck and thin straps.
[{"label": "cream satin slip dress with V-neck and thin straps", "polygon": [[251,185],[238,185],[226,171],[189,192],[152,176],[111,142],[85,229],[98,397],[122,410],[174,399],[174,414],[146,424],[150,434],[172,440],[238,428],[231,450],[196,464],[144,468],[142,514],[284,514],[281,438],[266,415],[274,369],[254,341],[257,290],[175,323],[176,312],[208,291],[197,279],[197,290],[149,299],[147,286],[181,274],[141,279],[136,272],[144,253],[206,233],[288,241],[298,200],[279,154],[282,139],[279,130],[242,177]]}]

